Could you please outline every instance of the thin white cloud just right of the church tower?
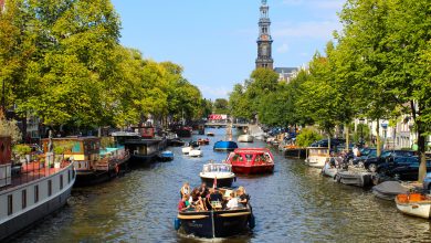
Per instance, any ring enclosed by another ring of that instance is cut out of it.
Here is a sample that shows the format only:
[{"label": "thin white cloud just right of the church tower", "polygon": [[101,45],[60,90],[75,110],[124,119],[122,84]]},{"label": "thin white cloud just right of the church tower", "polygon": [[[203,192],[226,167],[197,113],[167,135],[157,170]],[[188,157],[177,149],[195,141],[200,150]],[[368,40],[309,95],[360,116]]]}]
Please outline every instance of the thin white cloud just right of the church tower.
[{"label": "thin white cloud just right of the church tower", "polygon": [[309,21],[297,24],[284,23],[274,27],[275,38],[312,38],[329,40],[335,30],[340,30],[341,24],[336,21]]}]

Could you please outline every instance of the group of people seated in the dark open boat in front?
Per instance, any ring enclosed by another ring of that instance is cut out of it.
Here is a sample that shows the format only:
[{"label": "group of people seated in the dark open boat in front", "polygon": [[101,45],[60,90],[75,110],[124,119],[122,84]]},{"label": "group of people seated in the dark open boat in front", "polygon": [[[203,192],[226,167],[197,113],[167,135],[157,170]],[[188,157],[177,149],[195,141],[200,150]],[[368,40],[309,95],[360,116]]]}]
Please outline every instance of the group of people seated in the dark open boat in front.
[{"label": "group of people seated in the dark open boat in front", "polygon": [[236,191],[228,190],[228,192],[227,197],[223,197],[218,188],[207,188],[204,182],[191,190],[190,184],[186,182],[180,189],[181,200],[178,203],[178,211],[229,210],[246,207],[249,203],[250,197],[243,187],[239,187]]}]

